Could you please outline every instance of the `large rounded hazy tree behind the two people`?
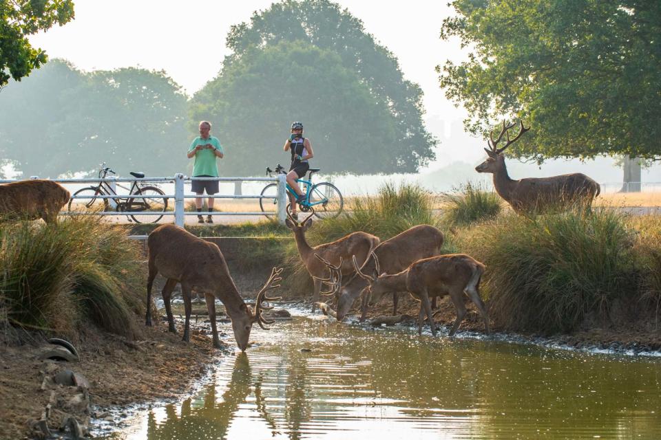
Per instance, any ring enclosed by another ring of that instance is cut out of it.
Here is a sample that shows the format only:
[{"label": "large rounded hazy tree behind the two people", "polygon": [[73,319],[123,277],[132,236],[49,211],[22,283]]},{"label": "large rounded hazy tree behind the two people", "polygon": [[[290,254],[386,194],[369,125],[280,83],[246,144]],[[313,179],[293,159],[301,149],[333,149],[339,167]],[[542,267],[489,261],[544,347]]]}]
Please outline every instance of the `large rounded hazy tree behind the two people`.
[{"label": "large rounded hazy tree behind the two people", "polygon": [[414,172],[434,158],[421,89],[335,3],[275,3],[233,26],[227,46],[233,53],[193,98],[192,115],[216,122],[221,141],[238,152],[226,156],[233,172],[286,162],[293,120],[304,122],[326,172]]}]

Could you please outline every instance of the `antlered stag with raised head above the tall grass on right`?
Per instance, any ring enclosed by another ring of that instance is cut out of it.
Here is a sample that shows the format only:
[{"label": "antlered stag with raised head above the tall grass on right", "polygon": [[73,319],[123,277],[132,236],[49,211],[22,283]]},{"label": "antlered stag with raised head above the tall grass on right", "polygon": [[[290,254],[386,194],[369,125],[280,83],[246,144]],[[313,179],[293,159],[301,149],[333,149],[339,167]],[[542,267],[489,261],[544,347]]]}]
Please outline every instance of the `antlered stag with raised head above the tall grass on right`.
[{"label": "antlered stag with raised head above the tall grass on right", "polygon": [[[510,179],[507,175],[503,151],[530,129],[523,126],[523,121],[520,122],[521,129],[512,140],[509,131],[516,125],[514,122],[505,124],[503,121],[503,129],[498,139],[494,140],[493,133],[490,134],[490,141],[487,141],[490,149],[484,148],[489,157],[476,166],[475,170],[478,173],[493,173],[496,192],[510,203],[516,212],[541,212],[548,208],[567,208],[576,204],[589,208],[594,198],[599,195],[600,186],[583,173]],[[496,148],[505,134],[507,134],[507,142],[501,148]]]}]

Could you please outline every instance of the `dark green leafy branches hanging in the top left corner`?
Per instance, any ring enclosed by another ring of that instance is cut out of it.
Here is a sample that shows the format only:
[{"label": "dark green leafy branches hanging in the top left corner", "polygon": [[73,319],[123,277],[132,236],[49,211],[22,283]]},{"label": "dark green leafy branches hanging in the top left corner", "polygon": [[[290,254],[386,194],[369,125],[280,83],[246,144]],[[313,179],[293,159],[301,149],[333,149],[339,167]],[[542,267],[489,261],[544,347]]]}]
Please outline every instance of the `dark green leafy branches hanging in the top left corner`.
[{"label": "dark green leafy branches hanging in the top left corner", "polygon": [[72,0],[0,0],[0,87],[20,81],[48,59],[28,35],[64,25],[74,18]]}]

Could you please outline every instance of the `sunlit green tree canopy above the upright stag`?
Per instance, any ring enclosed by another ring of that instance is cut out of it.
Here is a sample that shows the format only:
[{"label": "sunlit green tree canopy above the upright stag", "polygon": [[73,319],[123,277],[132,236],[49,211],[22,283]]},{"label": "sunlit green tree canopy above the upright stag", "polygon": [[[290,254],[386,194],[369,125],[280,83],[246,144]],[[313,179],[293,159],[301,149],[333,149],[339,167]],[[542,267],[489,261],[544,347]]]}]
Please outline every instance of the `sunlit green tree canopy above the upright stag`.
[{"label": "sunlit green tree canopy above the upright stag", "polygon": [[[442,39],[468,61],[437,67],[473,133],[516,116],[532,129],[510,155],[661,156],[661,2],[455,0]],[[497,133],[496,133],[497,134]]]}]

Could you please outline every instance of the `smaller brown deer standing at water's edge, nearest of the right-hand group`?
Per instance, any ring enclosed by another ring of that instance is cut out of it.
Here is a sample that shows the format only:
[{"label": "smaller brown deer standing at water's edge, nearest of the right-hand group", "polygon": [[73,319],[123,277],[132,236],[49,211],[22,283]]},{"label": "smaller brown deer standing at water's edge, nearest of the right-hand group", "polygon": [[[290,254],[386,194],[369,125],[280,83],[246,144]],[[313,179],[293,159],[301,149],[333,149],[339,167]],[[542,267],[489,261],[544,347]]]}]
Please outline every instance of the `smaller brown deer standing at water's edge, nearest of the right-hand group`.
[{"label": "smaller brown deer standing at water's edge, nearest of the right-hand group", "polygon": [[[373,259],[378,266],[378,257],[373,256]],[[450,337],[454,336],[466,314],[466,306],[463,303],[464,292],[476,305],[484,319],[485,331],[489,333],[489,315],[479,293],[480,278],[485,266],[471,256],[465,254],[432,256],[416,261],[399,274],[384,274],[376,277],[362,273],[357,262],[354,265],[358,275],[369,283],[370,304],[376,304],[384,294],[400,291],[408,291],[413,298],[420,301],[418,333],[422,333],[422,323],[426,315],[432,334],[436,336],[436,325],[432,318],[429,300],[449,294],[454,308],[457,309],[457,318],[450,329]]]}]

